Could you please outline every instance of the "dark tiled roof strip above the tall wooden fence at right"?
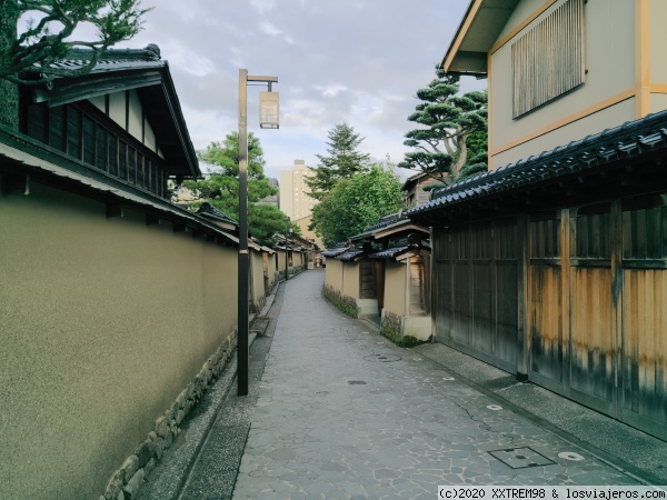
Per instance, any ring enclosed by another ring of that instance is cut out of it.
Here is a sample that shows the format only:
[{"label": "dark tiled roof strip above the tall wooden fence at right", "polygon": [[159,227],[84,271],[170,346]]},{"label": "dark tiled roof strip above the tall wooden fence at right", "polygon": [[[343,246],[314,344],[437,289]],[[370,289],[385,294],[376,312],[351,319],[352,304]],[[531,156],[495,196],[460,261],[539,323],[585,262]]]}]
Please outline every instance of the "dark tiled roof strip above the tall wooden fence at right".
[{"label": "dark tiled roof strip above the tall wooden fence at right", "polygon": [[427,203],[406,211],[410,218],[504,191],[520,190],[646,152],[667,149],[667,111],[604,130],[581,140],[519,160],[452,186],[436,189]]}]

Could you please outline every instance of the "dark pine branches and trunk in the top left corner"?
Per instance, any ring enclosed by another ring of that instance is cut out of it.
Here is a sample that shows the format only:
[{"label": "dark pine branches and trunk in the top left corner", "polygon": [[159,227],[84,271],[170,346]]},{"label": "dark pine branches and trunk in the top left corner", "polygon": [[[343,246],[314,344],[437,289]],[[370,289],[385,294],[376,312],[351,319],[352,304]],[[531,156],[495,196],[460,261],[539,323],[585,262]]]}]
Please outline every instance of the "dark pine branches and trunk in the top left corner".
[{"label": "dark pine branches and trunk in the top left corner", "polygon": [[[0,0],[0,123],[18,128],[17,83],[91,71],[102,50],[139,32],[149,10],[140,0]],[[21,32],[20,18],[27,20]],[[96,38],[79,40],[79,26],[94,28]],[[91,50],[88,64],[76,70],[54,64],[74,48]]]}]

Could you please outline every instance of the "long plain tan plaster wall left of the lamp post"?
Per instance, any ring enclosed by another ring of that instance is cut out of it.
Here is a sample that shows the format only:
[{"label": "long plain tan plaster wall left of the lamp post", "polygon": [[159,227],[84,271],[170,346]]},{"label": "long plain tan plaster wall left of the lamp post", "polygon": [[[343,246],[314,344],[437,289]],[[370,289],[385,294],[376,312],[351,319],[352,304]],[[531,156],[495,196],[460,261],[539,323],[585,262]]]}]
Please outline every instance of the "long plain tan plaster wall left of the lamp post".
[{"label": "long plain tan plaster wall left of the lamp post", "polygon": [[236,252],[34,182],[0,228],[0,497],[99,498],[232,334]]}]

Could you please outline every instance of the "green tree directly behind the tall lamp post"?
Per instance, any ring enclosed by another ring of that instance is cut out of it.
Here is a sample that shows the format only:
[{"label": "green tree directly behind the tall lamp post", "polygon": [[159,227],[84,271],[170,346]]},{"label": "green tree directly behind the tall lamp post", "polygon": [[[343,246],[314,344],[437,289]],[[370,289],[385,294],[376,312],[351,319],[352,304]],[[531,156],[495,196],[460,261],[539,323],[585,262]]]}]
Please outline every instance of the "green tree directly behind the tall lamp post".
[{"label": "green tree directly behind the tall lamp post", "polygon": [[[183,186],[195,192],[200,201],[192,203],[196,210],[205,201],[239,220],[239,134],[230,132],[221,142],[212,142],[198,151],[199,159],[211,166],[203,180],[187,180]],[[259,139],[248,134],[248,230],[263,244],[272,244],[276,233],[283,233],[289,219],[278,208],[256,204],[262,198],[275,194],[263,173],[263,152]]]}]

